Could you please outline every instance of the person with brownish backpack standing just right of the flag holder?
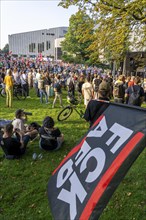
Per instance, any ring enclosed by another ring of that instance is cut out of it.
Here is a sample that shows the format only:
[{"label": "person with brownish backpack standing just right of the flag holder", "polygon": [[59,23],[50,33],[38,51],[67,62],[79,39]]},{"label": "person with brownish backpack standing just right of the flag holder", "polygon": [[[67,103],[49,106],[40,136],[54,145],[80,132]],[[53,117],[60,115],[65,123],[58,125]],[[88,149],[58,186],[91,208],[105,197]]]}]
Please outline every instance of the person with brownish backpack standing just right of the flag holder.
[{"label": "person with brownish backpack standing just right of the flag holder", "polygon": [[114,102],[124,103],[125,89],[126,89],[125,76],[120,75],[114,83],[114,88],[113,88]]}]

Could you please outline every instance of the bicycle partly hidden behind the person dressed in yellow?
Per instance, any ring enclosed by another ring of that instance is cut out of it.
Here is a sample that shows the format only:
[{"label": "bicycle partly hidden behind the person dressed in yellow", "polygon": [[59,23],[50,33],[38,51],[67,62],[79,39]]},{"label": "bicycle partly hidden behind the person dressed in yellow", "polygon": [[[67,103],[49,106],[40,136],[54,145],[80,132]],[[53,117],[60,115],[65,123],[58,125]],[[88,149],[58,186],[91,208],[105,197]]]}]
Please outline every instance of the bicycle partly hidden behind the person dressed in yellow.
[{"label": "bicycle partly hidden behind the person dressed in yellow", "polygon": [[[4,87],[0,89],[0,95],[3,98],[6,97],[6,91]],[[18,100],[25,100],[27,94],[26,91],[20,85],[14,85],[13,96],[15,96]]]}]

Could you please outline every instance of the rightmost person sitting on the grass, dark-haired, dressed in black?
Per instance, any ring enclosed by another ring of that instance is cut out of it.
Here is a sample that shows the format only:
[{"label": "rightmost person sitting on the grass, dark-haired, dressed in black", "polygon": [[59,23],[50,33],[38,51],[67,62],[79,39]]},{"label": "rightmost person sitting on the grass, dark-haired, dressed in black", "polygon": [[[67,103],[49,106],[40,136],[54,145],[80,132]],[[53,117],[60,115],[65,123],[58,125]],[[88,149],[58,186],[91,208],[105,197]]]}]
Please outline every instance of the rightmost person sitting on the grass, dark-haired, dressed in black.
[{"label": "rightmost person sitting on the grass, dark-haired, dressed in black", "polygon": [[54,127],[53,118],[46,116],[43,126],[39,129],[40,141],[39,147],[46,151],[58,150],[64,141],[64,135],[60,129]]}]

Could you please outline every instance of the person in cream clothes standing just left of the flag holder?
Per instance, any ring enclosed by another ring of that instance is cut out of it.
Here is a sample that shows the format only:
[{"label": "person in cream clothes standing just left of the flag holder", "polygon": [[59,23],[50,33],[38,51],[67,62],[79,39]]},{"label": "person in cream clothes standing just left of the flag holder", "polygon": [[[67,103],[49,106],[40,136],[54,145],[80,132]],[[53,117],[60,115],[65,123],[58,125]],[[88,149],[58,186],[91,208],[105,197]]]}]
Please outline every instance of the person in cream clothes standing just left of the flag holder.
[{"label": "person in cream clothes standing just left of the flag holder", "polygon": [[93,87],[90,82],[90,77],[86,78],[85,83],[82,85],[82,94],[84,97],[84,105],[87,107],[89,101],[93,98]]}]

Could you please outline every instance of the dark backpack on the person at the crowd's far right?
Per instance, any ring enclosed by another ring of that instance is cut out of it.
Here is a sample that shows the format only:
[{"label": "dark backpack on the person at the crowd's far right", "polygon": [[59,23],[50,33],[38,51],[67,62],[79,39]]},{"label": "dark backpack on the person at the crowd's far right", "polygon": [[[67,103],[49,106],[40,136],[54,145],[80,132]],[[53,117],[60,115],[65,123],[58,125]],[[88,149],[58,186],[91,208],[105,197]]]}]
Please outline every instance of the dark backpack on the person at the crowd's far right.
[{"label": "dark backpack on the person at the crowd's far right", "polygon": [[132,90],[132,93],[129,95],[128,104],[140,106],[141,104],[140,88],[136,91],[134,90],[134,87],[131,86],[131,90]]}]

